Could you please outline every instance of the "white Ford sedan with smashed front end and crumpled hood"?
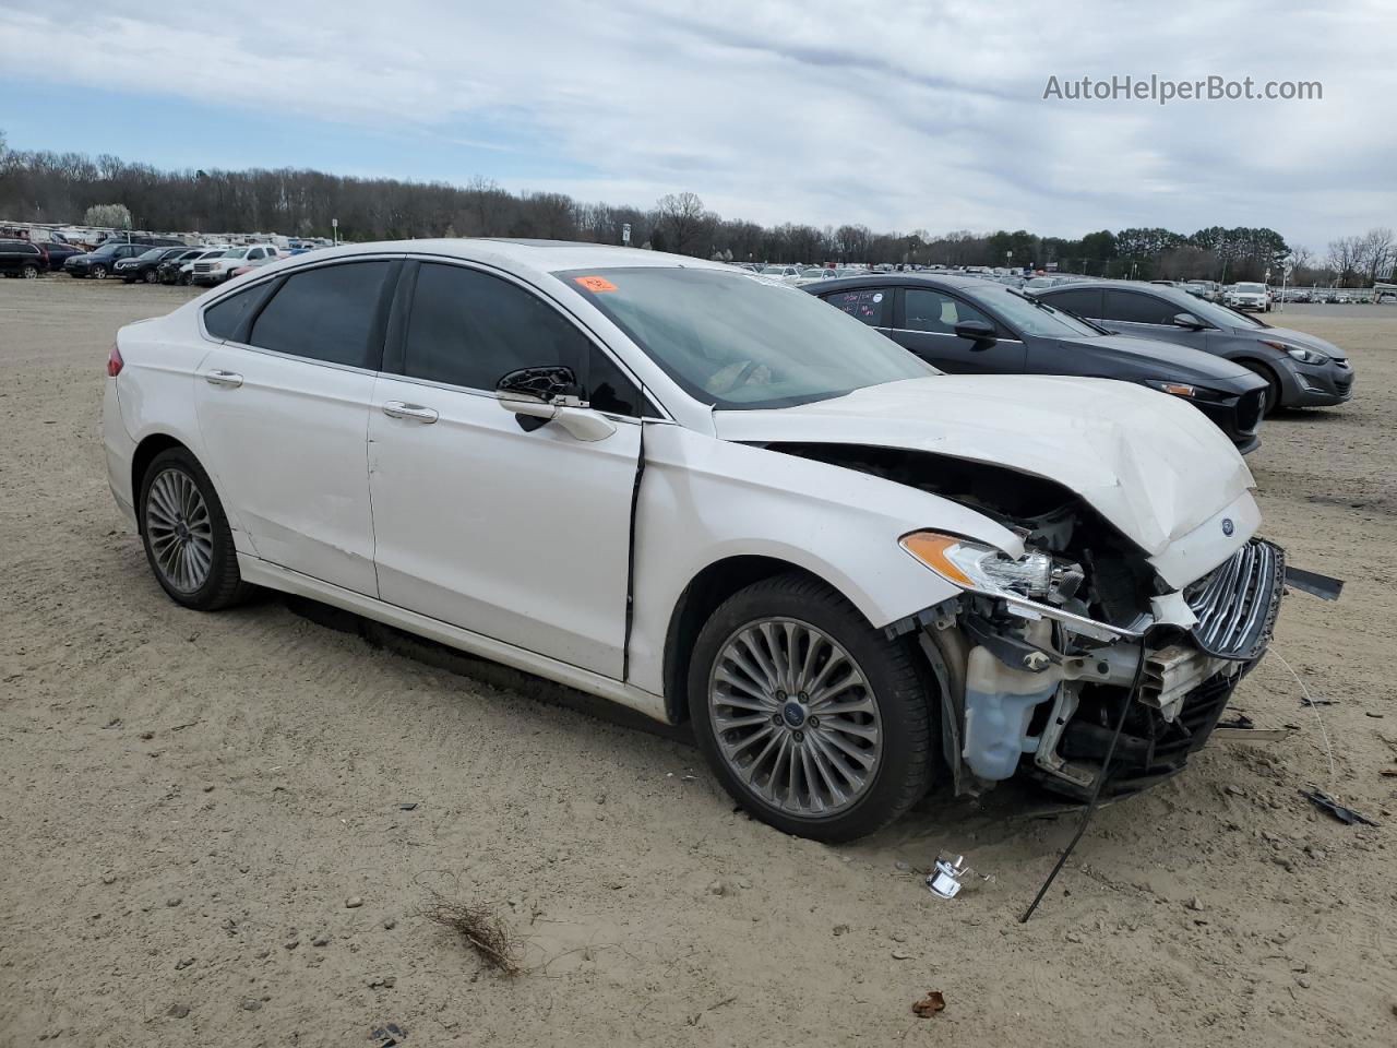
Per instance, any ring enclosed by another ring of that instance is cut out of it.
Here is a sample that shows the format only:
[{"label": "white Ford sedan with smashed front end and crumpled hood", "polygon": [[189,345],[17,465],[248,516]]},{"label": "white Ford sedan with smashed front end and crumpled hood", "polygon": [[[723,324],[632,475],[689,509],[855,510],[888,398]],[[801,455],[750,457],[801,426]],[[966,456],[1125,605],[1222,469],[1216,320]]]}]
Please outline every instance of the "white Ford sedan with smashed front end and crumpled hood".
[{"label": "white Ford sedan with smashed front end and crumpled hood", "polygon": [[1112,745],[1111,792],[1176,773],[1285,578],[1190,405],[944,376],[693,259],[317,252],[122,328],[108,372],[112,489],[180,604],[302,594],[689,720],[827,841],[937,783],[1085,796]]}]

